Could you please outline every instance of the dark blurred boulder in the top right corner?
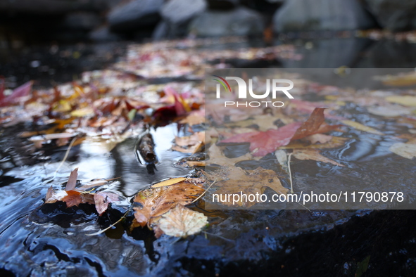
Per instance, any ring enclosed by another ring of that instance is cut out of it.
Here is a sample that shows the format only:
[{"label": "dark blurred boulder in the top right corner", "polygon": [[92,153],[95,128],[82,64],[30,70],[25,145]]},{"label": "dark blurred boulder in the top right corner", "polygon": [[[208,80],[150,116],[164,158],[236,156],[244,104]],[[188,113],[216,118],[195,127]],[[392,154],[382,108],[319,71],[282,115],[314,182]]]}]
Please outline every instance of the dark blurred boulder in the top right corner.
[{"label": "dark blurred boulder in the top right corner", "polygon": [[391,31],[416,29],[416,0],[365,0],[379,24]]}]

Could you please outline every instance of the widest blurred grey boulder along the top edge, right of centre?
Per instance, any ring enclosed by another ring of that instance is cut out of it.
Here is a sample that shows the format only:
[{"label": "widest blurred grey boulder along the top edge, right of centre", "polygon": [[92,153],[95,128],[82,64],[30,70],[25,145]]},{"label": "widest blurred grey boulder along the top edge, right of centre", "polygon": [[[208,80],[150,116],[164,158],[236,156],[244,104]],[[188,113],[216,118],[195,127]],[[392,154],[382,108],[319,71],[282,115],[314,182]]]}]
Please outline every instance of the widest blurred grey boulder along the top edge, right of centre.
[{"label": "widest blurred grey boulder along the top edge, right of centre", "polygon": [[273,18],[276,32],[363,30],[376,26],[357,0],[290,0]]}]

